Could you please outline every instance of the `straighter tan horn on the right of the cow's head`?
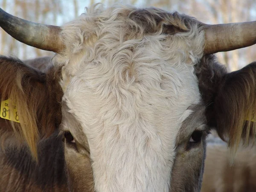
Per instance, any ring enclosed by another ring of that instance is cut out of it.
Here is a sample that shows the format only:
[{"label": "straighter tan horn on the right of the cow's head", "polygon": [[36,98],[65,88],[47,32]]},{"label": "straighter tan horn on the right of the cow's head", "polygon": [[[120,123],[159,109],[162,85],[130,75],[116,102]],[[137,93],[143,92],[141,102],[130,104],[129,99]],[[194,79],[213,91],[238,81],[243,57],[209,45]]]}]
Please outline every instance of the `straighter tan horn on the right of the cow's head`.
[{"label": "straighter tan horn on the right of the cow's head", "polygon": [[205,55],[249,47],[253,44],[256,44],[256,21],[205,24]]}]

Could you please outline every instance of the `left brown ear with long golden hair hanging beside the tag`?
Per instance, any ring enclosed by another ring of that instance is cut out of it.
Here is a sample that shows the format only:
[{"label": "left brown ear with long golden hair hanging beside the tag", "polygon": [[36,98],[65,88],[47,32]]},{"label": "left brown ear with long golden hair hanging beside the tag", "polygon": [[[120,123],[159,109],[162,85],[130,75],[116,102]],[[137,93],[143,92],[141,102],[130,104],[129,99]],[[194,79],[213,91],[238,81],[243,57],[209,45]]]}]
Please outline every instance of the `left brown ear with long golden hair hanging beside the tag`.
[{"label": "left brown ear with long golden hair hanging beside the tag", "polygon": [[1,56],[0,72],[1,100],[10,99],[10,105],[15,103],[20,121],[1,127],[1,133],[14,133],[37,158],[38,139],[52,134],[61,122],[60,70],[50,66],[42,73],[18,59]]}]

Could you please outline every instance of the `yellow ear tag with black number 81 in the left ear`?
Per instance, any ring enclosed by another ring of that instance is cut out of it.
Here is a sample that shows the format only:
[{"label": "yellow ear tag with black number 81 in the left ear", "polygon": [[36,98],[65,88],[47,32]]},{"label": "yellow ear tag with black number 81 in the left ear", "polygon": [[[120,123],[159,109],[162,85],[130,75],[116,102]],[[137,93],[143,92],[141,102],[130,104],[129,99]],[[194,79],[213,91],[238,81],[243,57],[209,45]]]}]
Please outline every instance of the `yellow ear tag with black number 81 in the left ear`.
[{"label": "yellow ear tag with black number 81 in the left ear", "polygon": [[9,99],[1,102],[0,117],[10,121],[19,122],[16,105],[12,105],[12,113],[10,111]]}]

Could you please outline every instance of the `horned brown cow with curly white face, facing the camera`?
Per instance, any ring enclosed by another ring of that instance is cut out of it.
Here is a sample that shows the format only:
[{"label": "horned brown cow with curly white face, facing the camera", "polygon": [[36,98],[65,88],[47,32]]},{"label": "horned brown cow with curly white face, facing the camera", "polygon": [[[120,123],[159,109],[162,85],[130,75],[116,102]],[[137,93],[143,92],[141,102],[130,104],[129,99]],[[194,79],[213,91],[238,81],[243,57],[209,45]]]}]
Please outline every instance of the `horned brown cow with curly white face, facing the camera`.
[{"label": "horned brown cow with curly white face, facing the camera", "polygon": [[256,63],[228,73],[214,56],[255,44],[255,22],[96,4],[61,27],[1,10],[0,26],[55,52],[44,73],[0,58],[19,119],[1,128],[4,191],[198,192],[209,130],[232,151],[255,138]]}]

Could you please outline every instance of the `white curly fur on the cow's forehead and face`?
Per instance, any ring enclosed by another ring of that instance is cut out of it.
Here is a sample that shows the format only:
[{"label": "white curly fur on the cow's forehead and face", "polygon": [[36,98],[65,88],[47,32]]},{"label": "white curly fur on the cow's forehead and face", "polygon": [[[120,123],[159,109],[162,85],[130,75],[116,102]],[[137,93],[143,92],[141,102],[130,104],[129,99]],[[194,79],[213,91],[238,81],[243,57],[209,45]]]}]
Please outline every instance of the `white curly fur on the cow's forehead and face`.
[{"label": "white curly fur on the cow's forehead and face", "polygon": [[178,13],[96,5],[62,35],[67,49],[54,62],[87,136],[96,191],[168,192],[177,133],[201,100],[193,65],[203,30]]}]

